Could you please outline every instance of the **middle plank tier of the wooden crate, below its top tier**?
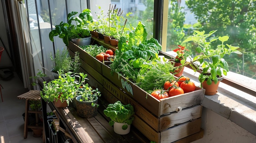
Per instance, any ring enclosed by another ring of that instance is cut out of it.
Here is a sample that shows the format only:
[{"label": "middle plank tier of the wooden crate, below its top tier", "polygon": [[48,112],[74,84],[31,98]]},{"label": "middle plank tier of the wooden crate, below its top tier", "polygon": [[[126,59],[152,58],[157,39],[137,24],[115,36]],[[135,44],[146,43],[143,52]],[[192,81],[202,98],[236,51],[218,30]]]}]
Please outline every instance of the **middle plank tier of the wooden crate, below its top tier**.
[{"label": "middle plank tier of the wooden crate, below its top tier", "polygon": [[114,84],[112,84],[111,81],[105,79],[104,77],[103,88],[111,94],[103,95],[106,100],[112,103],[111,96],[115,96],[118,100],[125,104],[132,104],[132,106],[134,106],[135,108],[136,116],[140,117],[140,119],[144,121],[148,125],[148,127],[152,128],[156,132],[185,123],[187,121],[198,119],[201,117],[202,114],[202,105],[198,104],[189,108],[185,108],[181,112],[175,111],[162,115],[161,117],[157,117],[151,114],[151,112],[147,110],[147,108],[141,106],[141,103],[138,103],[137,101],[132,99],[132,97],[127,95],[124,91],[120,90],[119,87],[115,86]]}]

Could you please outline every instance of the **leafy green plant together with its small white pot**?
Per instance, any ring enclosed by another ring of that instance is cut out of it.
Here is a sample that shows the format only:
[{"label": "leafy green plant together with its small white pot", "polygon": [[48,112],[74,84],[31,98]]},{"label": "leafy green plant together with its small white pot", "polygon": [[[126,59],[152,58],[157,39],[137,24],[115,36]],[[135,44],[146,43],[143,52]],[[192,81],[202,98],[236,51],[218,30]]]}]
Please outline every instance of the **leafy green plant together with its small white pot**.
[{"label": "leafy green plant together with its small white pot", "polygon": [[114,125],[114,131],[117,134],[128,134],[130,132],[130,125],[134,120],[132,115],[135,113],[132,105],[123,105],[121,101],[114,104],[109,104],[104,114],[111,120],[109,124]]}]

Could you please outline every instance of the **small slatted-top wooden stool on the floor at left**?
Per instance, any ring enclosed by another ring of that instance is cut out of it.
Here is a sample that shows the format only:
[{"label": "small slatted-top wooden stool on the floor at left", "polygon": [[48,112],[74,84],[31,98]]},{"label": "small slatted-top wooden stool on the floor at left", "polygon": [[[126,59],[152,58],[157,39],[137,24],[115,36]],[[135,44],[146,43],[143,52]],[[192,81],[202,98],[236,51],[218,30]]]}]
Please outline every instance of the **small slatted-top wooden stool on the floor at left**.
[{"label": "small slatted-top wooden stool on the floor at left", "polygon": [[36,114],[36,123],[38,123],[38,113],[42,113],[42,111],[31,111],[29,110],[29,100],[36,101],[41,100],[40,96],[40,90],[29,90],[29,92],[26,92],[22,95],[17,96],[19,99],[26,99],[26,105],[25,105],[25,123],[24,123],[24,139],[27,139],[27,131],[28,128],[31,129],[43,129],[43,127],[36,126],[36,125],[28,125],[29,120],[29,113],[35,113]]}]

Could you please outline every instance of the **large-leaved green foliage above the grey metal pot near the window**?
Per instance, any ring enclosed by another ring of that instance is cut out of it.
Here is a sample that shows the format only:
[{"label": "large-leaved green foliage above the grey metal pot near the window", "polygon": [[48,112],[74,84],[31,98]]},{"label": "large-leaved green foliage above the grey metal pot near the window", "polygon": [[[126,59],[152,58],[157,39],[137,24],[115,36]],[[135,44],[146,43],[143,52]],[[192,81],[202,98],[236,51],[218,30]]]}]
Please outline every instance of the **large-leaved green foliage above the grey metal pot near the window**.
[{"label": "large-leaved green foliage above the grey metal pot near the window", "polygon": [[[90,9],[84,9],[79,16],[75,16],[78,12],[72,11],[67,15],[67,23],[61,22],[55,26],[55,29],[49,33],[49,39],[53,42],[54,36],[62,38],[66,46],[72,38],[90,37],[88,23],[92,22],[93,17]],[[75,24],[72,24],[75,23]]]}]

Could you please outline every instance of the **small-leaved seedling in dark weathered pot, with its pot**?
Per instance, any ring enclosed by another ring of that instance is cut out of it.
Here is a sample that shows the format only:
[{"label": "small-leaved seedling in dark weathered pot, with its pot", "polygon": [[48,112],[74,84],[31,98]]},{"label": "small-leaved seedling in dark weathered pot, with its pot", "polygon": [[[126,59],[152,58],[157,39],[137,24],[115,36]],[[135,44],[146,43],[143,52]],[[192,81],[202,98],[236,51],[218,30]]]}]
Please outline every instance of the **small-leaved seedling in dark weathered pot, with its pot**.
[{"label": "small-leaved seedling in dark weathered pot, with its pot", "polygon": [[101,92],[96,89],[92,89],[88,84],[80,86],[77,90],[76,97],[76,111],[81,117],[94,117],[97,115],[98,97],[101,96]]}]

